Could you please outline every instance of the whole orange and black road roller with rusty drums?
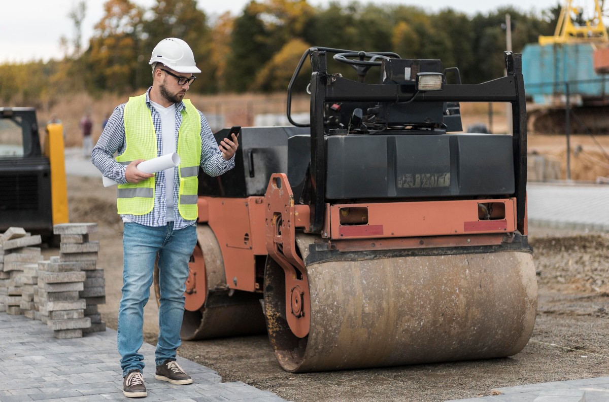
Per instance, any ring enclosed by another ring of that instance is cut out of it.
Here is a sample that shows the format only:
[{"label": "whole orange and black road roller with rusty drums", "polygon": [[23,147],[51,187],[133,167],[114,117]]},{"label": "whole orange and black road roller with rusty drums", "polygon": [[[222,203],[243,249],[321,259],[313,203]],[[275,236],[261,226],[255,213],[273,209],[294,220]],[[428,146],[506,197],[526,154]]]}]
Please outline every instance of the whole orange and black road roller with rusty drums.
[{"label": "whole orange and black road roller with rusty drums", "polygon": [[[182,338],[266,331],[296,373],[520,352],[537,282],[521,55],[503,57],[507,75],[463,84],[440,60],[308,49],[290,125],[242,128],[235,167],[199,176]],[[463,102],[511,106],[511,132],[464,132]]]}]

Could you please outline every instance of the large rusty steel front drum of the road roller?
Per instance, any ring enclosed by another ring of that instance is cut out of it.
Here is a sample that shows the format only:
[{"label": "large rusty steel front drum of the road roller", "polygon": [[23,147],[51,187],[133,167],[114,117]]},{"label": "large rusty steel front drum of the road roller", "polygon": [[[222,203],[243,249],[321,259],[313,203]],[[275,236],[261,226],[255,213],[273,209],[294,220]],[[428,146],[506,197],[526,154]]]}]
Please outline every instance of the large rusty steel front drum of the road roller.
[{"label": "large rusty steel front drum of the road roller", "polygon": [[[311,237],[298,235],[303,260]],[[494,252],[306,266],[310,327],[289,329],[283,269],[269,259],[267,330],[284,370],[498,358],[527,344],[535,324],[537,280],[528,252]]]}]

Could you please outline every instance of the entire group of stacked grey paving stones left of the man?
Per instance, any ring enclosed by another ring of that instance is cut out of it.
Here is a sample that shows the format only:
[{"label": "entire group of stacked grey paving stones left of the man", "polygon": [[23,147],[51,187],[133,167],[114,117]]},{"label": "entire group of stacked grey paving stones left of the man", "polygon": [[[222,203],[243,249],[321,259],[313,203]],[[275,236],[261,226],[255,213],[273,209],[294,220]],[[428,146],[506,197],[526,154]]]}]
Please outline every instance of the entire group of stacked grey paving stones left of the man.
[{"label": "entire group of stacked grey paving stones left of the man", "polygon": [[11,227],[0,236],[0,311],[47,324],[55,338],[80,338],[105,331],[97,305],[105,303],[104,270],[97,267],[96,223],[54,227],[60,255],[43,261],[40,235]]}]

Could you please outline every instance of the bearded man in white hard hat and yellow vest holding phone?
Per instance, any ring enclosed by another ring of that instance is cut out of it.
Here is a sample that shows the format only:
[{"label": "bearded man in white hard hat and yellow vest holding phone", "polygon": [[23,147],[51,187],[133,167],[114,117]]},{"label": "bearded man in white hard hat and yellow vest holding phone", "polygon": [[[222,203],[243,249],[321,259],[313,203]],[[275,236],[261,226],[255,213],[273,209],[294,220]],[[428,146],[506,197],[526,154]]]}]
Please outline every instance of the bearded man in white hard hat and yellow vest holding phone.
[{"label": "bearded man in white hard hat and yellow vest holding phone", "polygon": [[[152,86],[114,109],[91,153],[102,174],[118,182],[118,213],[124,222],[117,330],[127,397],[147,396],[139,348],[157,256],[161,296],[155,378],[192,383],[175,361],[175,351],[181,344],[188,262],[197,243],[197,176],[199,167],[210,176],[233,168],[239,147],[235,134],[218,145],[203,114],[184,99],[195,80],[192,74],[201,72],[185,41],[160,41],[149,64]],[[155,174],[137,168],[140,162],[171,153],[180,156],[175,168]]]}]

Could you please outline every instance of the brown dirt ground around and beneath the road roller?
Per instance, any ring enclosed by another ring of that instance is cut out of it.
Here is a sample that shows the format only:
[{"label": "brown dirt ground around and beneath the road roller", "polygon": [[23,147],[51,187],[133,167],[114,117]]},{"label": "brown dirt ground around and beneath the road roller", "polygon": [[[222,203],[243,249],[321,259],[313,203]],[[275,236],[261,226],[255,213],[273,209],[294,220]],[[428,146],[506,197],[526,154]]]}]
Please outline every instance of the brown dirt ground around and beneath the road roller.
[{"label": "brown dirt ground around and beneath the road roller", "polygon": [[[99,224],[92,240],[100,241],[107,294],[99,309],[111,328],[122,286],[115,196],[116,189],[102,187],[99,179],[68,176],[71,221]],[[491,395],[496,387],[608,375],[609,235],[532,227],[530,243],[538,271],[537,321],[529,344],[510,358],[292,374],[280,368],[266,336],[183,342],[178,353],[216,370],[224,381],[243,381],[297,402],[445,401]],[[155,344],[158,310],[151,295],[145,338]]]}]

